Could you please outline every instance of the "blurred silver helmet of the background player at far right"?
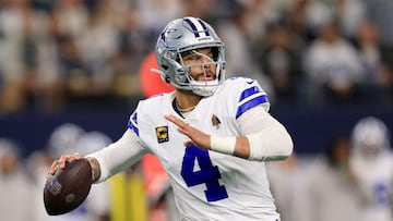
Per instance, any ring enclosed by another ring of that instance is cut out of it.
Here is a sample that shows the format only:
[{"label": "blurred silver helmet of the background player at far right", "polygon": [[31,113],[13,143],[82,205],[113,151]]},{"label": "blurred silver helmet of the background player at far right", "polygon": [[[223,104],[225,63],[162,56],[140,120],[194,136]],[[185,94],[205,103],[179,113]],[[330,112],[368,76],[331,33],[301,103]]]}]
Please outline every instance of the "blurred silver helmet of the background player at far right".
[{"label": "blurred silver helmet of the background player at far right", "polygon": [[352,135],[355,150],[365,155],[378,155],[390,148],[389,130],[384,122],[374,116],[360,119]]}]

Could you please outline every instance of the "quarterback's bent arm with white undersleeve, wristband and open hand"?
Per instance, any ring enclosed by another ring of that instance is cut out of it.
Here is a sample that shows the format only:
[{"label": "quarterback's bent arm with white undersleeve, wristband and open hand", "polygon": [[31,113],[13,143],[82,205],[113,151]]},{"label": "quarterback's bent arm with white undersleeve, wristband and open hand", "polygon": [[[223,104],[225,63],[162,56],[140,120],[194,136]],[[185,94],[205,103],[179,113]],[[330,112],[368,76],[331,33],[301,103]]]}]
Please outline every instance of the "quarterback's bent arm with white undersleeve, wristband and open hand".
[{"label": "quarterback's bent arm with white undersleeve, wristband and open hand", "polygon": [[284,160],[293,151],[290,135],[262,106],[252,108],[238,119],[240,131],[248,134],[238,137],[210,136],[175,115],[166,115],[166,119],[190,138],[184,146],[196,145],[202,149],[257,161]]}]

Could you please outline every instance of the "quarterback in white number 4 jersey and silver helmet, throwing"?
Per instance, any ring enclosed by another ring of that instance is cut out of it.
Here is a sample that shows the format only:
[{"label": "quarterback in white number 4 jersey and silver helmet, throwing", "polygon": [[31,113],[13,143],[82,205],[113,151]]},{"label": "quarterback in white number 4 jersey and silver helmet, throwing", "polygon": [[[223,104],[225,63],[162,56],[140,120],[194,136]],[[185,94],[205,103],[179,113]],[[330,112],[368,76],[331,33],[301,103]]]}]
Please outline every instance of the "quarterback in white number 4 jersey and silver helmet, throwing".
[{"label": "quarterback in white number 4 jersey and silver helmet, throwing", "polygon": [[[278,221],[264,161],[291,155],[286,128],[251,78],[225,78],[225,47],[198,17],[171,21],[157,39],[157,72],[175,91],[141,100],[120,139],[84,156],[95,183],[158,157],[181,220]],[[79,154],[63,155],[48,173]],[[90,179],[90,177],[88,177]]]}]

